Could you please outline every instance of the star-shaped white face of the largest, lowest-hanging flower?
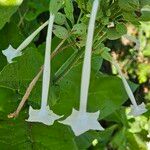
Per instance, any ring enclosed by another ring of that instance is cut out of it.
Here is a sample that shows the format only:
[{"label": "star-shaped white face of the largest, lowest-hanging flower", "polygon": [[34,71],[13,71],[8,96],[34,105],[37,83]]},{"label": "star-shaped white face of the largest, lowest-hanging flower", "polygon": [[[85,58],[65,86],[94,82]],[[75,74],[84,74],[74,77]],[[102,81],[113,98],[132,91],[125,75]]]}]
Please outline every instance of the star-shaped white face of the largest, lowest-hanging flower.
[{"label": "star-shaped white face of the largest, lowest-hanging flower", "polygon": [[97,120],[99,114],[99,111],[88,113],[73,109],[72,114],[68,118],[59,122],[71,126],[74,134],[79,136],[88,130],[104,130]]}]

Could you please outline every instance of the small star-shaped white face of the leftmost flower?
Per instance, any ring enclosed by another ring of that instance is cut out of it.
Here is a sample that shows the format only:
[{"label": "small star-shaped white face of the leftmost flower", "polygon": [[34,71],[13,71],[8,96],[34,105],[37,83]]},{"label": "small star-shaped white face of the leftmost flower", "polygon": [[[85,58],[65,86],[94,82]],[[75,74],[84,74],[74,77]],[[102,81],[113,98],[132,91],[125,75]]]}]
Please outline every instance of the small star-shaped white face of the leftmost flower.
[{"label": "small star-shaped white face of the leftmost flower", "polygon": [[14,58],[22,55],[22,52],[17,51],[11,45],[6,50],[3,50],[2,53],[6,56],[8,63],[12,63]]}]

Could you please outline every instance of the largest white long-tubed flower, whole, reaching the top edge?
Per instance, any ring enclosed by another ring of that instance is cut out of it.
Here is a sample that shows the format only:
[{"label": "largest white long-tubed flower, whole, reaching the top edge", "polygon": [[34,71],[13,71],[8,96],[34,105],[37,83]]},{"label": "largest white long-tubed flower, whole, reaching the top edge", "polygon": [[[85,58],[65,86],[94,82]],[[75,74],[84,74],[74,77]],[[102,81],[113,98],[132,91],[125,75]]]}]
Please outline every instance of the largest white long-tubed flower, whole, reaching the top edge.
[{"label": "largest white long-tubed flower, whole, reaching the top edge", "polygon": [[95,113],[86,112],[88,89],[90,82],[91,72],[91,53],[92,53],[92,42],[94,34],[95,19],[98,10],[99,0],[93,2],[88,35],[85,48],[85,56],[82,69],[82,80],[81,80],[81,95],[80,95],[80,108],[79,111],[73,109],[72,114],[60,123],[70,125],[75,135],[78,136],[88,130],[104,130],[98,122],[100,111]]}]

